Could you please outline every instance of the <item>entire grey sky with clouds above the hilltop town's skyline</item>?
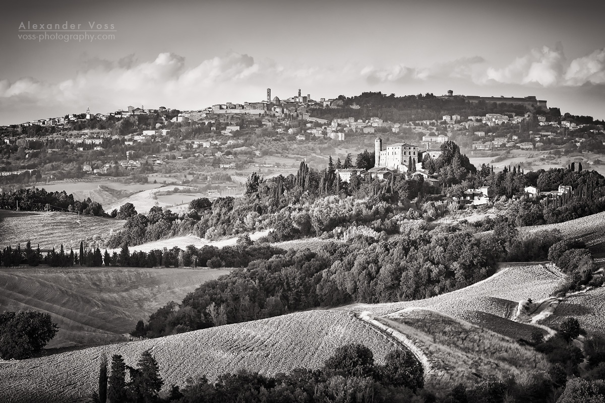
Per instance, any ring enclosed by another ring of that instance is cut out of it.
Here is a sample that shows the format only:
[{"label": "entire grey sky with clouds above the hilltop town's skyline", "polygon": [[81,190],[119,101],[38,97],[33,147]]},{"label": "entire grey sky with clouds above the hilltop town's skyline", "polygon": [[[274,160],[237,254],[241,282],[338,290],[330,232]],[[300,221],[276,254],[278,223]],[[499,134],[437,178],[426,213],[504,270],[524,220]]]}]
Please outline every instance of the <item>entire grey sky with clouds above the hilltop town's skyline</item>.
[{"label": "entire grey sky with clouds above the hilltop town's skyline", "polygon": [[267,88],[315,100],[535,95],[605,119],[604,12],[605,2],[584,0],[10,2],[0,13],[0,124],[255,102]]}]

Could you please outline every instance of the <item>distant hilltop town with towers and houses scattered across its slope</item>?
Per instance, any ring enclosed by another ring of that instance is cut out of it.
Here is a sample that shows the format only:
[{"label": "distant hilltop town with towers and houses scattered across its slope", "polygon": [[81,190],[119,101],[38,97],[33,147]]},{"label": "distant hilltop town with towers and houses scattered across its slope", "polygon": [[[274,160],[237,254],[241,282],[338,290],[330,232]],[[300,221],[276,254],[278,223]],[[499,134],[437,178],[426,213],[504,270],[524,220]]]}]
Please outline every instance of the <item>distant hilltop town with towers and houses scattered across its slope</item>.
[{"label": "distant hilltop town with towers and houses scattered across its slope", "polygon": [[[394,99],[392,94],[380,97]],[[407,97],[397,99],[405,102]],[[221,170],[244,175],[259,169],[287,173],[296,169],[301,158],[325,163],[328,155],[336,156],[336,149],[359,153],[371,148],[377,136],[385,137],[385,142],[417,146],[414,164],[421,163],[424,155],[437,158],[440,145],[449,140],[471,155],[494,158],[511,150],[537,150],[547,155],[598,152],[605,142],[602,122],[561,115],[557,108],[549,109],[546,101],[535,97],[463,97],[451,91],[442,97],[419,95],[415,102],[427,103],[435,117],[415,120],[409,115],[399,121],[381,117],[386,108],[368,108],[356,102],[363,103],[363,98],[315,101],[310,94],[301,95],[300,90],[280,100],[271,98],[267,89],[266,100],[261,102],[227,102],[195,111],[128,106],[106,114],[87,110],[3,126],[0,175],[6,185],[82,175],[141,181],[152,172],[183,172],[183,166],[187,172],[202,169],[198,176],[217,175]],[[460,105],[469,112],[488,112],[443,114],[460,110]],[[494,109],[498,113],[489,112]],[[353,116],[338,117],[347,111]],[[307,154],[305,144],[316,147],[316,152]],[[275,158],[276,153],[284,158]],[[70,164],[57,167],[51,163],[65,155],[69,155]],[[598,164],[594,158],[592,162]]]}]

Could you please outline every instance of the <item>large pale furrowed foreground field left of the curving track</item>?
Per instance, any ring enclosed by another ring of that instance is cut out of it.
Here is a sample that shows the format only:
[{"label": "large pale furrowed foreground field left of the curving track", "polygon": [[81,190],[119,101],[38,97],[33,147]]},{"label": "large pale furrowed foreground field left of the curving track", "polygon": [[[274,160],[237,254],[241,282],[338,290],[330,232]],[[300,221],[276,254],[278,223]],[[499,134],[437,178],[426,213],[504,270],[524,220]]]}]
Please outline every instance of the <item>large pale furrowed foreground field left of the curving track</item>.
[{"label": "large pale furrowed foreground field left of the curving track", "polygon": [[187,378],[249,369],[264,374],[298,367],[318,369],[337,347],[361,343],[381,364],[401,348],[391,338],[345,312],[308,311],[247,323],[212,327],[158,339],[133,341],[60,353],[42,358],[0,363],[0,401],[66,402],[90,396],[98,387],[99,357],[121,354],[134,366],[151,350],[165,381],[185,385]]}]

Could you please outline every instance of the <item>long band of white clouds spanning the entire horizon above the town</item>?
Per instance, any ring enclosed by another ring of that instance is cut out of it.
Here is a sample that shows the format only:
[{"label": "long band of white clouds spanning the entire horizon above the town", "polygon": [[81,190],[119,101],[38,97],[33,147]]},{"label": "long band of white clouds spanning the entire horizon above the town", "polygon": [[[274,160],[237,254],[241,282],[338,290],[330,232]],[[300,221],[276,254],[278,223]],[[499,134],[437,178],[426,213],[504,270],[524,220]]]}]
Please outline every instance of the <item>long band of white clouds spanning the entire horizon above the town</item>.
[{"label": "long band of white clouds spanning the entire horizon above the town", "polygon": [[258,100],[267,86],[292,88],[292,94],[295,88],[306,88],[330,96],[337,91],[365,91],[368,85],[394,84],[393,89],[405,85],[409,89],[411,83],[419,87],[439,80],[459,80],[474,86],[545,88],[605,84],[605,48],[568,61],[560,44],[536,48],[505,66],[490,65],[481,56],[431,66],[363,66],[355,62],[319,66],[312,59],[307,64],[283,65],[235,52],[194,66],[188,66],[185,57],[175,53],[160,53],[154,60],[145,61],[135,54],[118,60],[85,55],[79,64],[73,77],[55,83],[34,77],[9,82],[0,77],[0,118],[13,120],[27,112],[26,120],[31,120],[83,111],[87,106],[100,112],[126,105],[195,109],[229,100]]}]

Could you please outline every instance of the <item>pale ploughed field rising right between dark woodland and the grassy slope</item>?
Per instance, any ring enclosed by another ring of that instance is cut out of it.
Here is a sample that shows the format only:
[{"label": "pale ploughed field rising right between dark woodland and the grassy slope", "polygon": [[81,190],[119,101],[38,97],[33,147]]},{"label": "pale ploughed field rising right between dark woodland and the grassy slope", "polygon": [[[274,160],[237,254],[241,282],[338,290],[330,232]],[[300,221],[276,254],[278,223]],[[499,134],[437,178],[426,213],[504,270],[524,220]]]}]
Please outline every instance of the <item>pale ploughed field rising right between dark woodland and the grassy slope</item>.
[{"label": "pale ploughed field rising right between dark woodland and the grassy slope", "polygon": [[415,308],[428,309],[486,327],[507,337],[529,338],[536,328],[511,320],[518,301],[542,300],[563,281],[551,264],[507,263],[494,276],[457,291],[424,300],[356,304],[339,309],[396,317]]}]

